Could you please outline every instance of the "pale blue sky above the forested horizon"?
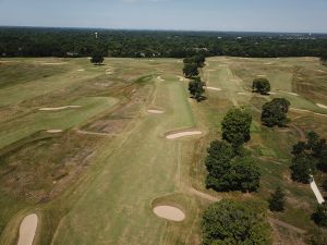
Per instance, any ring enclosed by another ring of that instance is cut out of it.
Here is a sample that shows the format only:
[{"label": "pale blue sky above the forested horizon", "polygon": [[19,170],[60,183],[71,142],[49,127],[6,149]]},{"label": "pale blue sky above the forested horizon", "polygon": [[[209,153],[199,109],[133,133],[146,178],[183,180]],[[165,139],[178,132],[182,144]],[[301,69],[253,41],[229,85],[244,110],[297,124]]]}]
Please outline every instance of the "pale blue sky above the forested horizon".
[{"label": "pale blue sky above the forested horizon", "polygon": [[0,25],[327,33],[327,0],[0,0]]}]

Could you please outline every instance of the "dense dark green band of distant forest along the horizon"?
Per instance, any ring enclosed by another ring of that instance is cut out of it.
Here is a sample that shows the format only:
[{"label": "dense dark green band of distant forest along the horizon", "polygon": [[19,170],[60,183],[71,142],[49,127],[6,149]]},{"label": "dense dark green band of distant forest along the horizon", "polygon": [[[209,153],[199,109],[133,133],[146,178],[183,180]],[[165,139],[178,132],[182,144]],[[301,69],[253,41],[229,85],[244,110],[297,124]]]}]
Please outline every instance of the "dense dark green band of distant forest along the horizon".
[{"label": "dense dark green band of distant forest along the horizon", "polygon": [[[97,33],[97,34],[96,34]],[[0,27],[2,57],[326,57],[327,35]]]}]

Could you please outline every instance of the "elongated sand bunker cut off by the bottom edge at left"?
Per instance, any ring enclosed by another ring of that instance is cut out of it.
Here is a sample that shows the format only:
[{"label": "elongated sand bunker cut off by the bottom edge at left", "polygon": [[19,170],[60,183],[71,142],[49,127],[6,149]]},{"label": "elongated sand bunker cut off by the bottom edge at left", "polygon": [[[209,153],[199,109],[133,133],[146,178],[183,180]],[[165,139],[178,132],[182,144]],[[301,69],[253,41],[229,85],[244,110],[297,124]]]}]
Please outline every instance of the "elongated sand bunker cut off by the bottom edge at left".
[{"label": "elongated sand bunker cut off by the bottom edge at left", "polygon": [[17,245],[32,245],[37,228],[37,216],[26,216],[21,223]]}]

